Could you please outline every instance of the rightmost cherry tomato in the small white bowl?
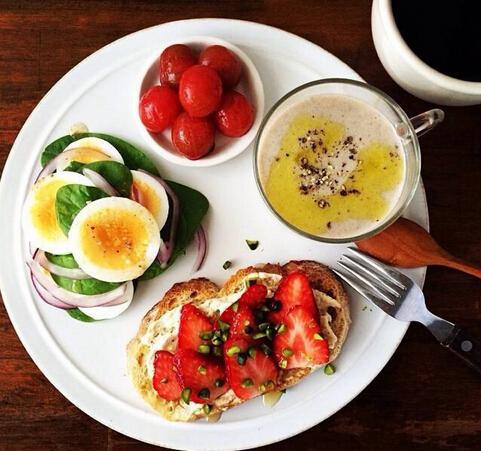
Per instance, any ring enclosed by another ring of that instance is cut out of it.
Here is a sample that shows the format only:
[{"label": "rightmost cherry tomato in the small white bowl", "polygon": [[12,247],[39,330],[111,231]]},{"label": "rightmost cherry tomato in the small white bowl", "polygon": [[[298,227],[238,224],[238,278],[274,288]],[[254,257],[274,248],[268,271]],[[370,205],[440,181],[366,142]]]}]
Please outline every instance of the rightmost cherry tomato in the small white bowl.
[{"label": "rightmost cherry tomato in the small white bowl", "polygon": [[254,107],[237,91],[224,94],[220,108],[215,113],[215,123],[219,131],[226,136],[237,138],[252,127]]}]

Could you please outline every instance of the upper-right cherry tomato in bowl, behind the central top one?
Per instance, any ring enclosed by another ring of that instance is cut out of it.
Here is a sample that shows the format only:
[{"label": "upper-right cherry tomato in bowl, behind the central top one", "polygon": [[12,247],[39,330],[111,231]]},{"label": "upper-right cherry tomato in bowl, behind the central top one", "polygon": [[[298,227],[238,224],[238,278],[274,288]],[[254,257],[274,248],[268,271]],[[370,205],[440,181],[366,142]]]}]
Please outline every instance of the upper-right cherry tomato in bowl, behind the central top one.
[{"label": "upper-right cherry tomato in bowl, behind the central top one", "polygon": [[239,83],[242,65],[237,56],[222,45],[211,45],[202,50],[199,63],[212,67],[220,75],[227,88]]}]

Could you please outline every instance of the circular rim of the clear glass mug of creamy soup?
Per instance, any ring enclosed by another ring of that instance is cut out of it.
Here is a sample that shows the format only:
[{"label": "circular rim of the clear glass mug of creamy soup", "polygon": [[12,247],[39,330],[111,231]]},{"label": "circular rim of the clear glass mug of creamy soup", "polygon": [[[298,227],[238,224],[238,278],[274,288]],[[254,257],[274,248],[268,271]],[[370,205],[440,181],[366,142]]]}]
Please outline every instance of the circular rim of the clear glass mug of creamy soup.
[{"label": "circular rim of the clear glass mug of creamy soup", "polygon": [[[410,135],[412,136],[413,139],[413,146],[414,146],[414,160],[416,163],[416,169],[415,169],[415,177],[413,181],[410,184],[408,194],[406,195],[406,198],[404,199],[403,203],[398,206],[393,212],[390,213],[390,215],[386,218],[385,221],[383,221],[381,224],[379,224],[377,227],[374,227],[367,232],[362,232],[358,235],[353,235],[353,236],[348,236],[348,237],[343,237],[343,238],[332,238],[332,237],[326,237],[326,236],[319,236],[319,235],[314,235],[312,233],[306,232],[305,230],[302,230],[301,228],[298,228],[294,224],[290,223],[287,221],[285,218],[281,216],[281,214],[274,208],[274,206],[271,204],[267,193],[264,190],[264,186],[262,185],[261,182],[261,177],[259,175],[259,164],[258,164],[258,155],[259,155],[259,145],[261,141],[262,134],[264,132],[264,129],[268,122],[270,121],[271,117],[273,116],[274,112],[280,107],[285,101],[287,101],[290,97],[293,95],[304,91],[306,89],[315,87],[317,85],[326,85],[326,84],[348,84],[355,86],[357,88],[362,88],[362,89],[367,89],[371,92],[374,92],[377,94],[379,97],[384,99],[385,102],[387,102],[402,118],[402,122],[406,124],[408,129],[410,130]],[[304,83],[300,86],[297,86],[296,88],[292,89],[289,91],[287,94],[282,96],[267,112],[267,114],[264,116],[264,119],[262,120],[262,123],[259,127],[259,130],[257,132],[255,141],[254,141],[254,152],[253,152],[253,169],[254,169],[254,178],[256,181],[257,189],[267,206],[267,208],[271,211],[271,213],[284,225],[286,225],[288,228],[293,230],[294,232],[303,235],[306,238],[312,239],[314,241],[318,241],[321,243],[329,243],[329,244],[343,244],[343,243],[352,243],[356,241],[360,241],[366,238],[369,238],[371,236],[377,235],[379,232],[383,231],[387,227],[389,227],[391,224],[393,224],[397,219],[399,219],[404,211],[406,210],[407,206],[410,204],[411,200],[414,197],[414,194],[416,193],[416,189],[419,185],[419,181],[421,179],[421,149],[419,146],[419,141],[418,137],[416,134],[416,131],[414,130],[414,127],[406,114],[406,112],[401,108],[401,106],[388,94],[386,94],[384,91],[376,88],[375,86],[372,86],[366,82],[361,82],[357,80],[352,80],[349,78],[323,78],[319,80],[313,80],[308,83]]]}]

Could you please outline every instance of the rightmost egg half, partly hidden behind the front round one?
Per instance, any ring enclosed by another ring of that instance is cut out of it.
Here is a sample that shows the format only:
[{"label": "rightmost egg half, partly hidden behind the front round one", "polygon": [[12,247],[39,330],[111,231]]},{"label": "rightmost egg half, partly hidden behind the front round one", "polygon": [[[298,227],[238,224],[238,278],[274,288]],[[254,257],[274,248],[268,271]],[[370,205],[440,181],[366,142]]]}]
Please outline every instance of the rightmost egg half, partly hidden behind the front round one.
[{"label": "rightmost egg half, partly hidden behind the front round one", "polygon": [[154,216],[159,229],[162,230],[169,216],[169,198],[165,188],[148,174],[130,171],[133,183],[141,191],[143,206]]}]

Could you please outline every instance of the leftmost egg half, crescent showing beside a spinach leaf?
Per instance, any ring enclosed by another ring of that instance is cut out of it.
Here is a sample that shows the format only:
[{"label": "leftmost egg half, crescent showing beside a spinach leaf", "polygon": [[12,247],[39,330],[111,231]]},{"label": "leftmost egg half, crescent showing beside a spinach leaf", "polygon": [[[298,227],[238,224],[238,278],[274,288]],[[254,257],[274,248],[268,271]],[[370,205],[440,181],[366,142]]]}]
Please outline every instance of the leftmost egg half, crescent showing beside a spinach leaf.
[{"label": "leftmost egg half, crescent showing beside a spinach leaf", "polygon": [[57,191],[71,184],[93,186],[87,177],[65,171],[41,178],[30,190],[23,209],[23,226],[32,246],[58,255],[71,252],[55,213]]}]

